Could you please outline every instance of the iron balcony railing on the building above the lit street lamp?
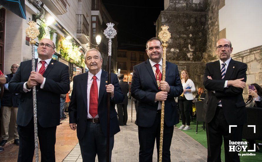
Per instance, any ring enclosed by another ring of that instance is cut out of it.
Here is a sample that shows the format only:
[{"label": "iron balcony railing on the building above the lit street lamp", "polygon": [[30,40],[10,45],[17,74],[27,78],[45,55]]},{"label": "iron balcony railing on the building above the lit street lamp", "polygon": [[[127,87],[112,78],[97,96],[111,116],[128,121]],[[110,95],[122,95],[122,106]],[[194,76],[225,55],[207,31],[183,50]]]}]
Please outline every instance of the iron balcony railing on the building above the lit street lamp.
[{"label": "iron balcony railing on the building above the lit street lamp", "polygon": [[[61,1],[61,0],[60,0]],[[77,33],[89,36],[89,24],[83,14],[77,14]]]}]

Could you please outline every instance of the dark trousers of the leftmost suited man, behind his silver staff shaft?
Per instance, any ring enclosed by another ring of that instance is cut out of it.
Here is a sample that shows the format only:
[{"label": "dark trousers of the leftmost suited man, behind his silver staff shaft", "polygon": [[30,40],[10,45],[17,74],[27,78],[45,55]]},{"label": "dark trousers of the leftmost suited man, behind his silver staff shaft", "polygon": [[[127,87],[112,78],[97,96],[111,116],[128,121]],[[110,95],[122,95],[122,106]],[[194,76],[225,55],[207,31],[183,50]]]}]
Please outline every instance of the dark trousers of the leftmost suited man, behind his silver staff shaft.
[{"label": "dark trousers of the leftmost suited man, behind his silver staff shaft", "polygon": [[[17,126],[19,134],[19,152],[18,162],[33,161],[34,156],[34,120],[29,122],[25,127]],[[54,145],[56,143],[56,130],[55,127],[43,128],[39,123],[37,124],[39,146],[41,151],[41,162],[54,162],[55,152]]]}]

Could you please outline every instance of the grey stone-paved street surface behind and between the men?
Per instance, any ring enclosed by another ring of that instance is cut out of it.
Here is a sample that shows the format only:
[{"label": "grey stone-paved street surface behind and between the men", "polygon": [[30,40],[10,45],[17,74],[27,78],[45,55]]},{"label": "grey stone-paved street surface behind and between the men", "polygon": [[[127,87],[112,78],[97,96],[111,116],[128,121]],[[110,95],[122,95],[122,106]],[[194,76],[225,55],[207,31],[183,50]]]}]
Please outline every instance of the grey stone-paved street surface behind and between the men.
[{"label": "grey stone-paved street surface behind and between the men", "polygon": [[[120,132],[115,135],[115,144],[112,151],[112,161],[114,162],[136,162],[139,155],[138,129],[135,125],[135,104],[133,103],[133,118],[131,123],[131,101],[128,106],[128,121],[126,126],[120,126]],[[174,128],[171,143],[171,161],[206,161],[207,149],[193,138]],[[97,162],[96,158],[96,162]],[[157,161],[157,149],[153,153],[153,162]],[[79,143],[64,158],[64,162],[82,162]]]}]

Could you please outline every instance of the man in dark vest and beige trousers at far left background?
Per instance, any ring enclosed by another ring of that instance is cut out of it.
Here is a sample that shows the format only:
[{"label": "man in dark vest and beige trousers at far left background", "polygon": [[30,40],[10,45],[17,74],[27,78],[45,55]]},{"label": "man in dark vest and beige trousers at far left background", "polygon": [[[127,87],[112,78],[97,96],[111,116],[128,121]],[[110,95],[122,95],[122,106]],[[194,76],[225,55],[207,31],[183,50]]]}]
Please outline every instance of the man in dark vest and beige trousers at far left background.
[{"label": "man in dark vest and beige trousers at far left background", "polygon": [[[16,70],[18,69],[19,65],[14,64],[11,66],[11,74],[7,74],[6,77],[8,77],[9,80],[12,79],[12,77],[15,75]],[[11,93],[8,90],[8,83],[4,84],[4,93],[2,97],[2,120],[1,120],[1,136],[2,141],[0,143],[0,146],[4,146],[9,138],[9,122],[11,114],[13,113],[14,116],[14,144],[19,145],[19,135],[17,132],[17,124],[16,124],[16,116],[17,116],[17,110],[18,105],[20,102],[20,96],[21,94],[15,94]]]}]

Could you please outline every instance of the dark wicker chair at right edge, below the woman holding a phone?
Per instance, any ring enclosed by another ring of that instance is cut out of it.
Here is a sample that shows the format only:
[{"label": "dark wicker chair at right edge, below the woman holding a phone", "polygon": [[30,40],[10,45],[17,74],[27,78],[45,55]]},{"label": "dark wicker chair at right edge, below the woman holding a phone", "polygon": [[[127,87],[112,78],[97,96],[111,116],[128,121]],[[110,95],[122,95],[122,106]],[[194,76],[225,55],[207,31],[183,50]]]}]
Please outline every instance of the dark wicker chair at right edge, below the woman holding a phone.
[{"label": "dark wicker chair at right edge, below the woman holding a phone", "polygon": [[[262,140],[262,108],[246,107],[247,123],[243,126],[242,138],[251,140]],[[256,125],[256,133],[253,127]]]}]

